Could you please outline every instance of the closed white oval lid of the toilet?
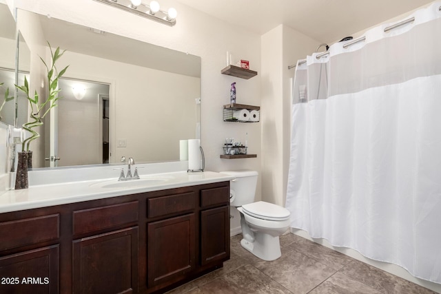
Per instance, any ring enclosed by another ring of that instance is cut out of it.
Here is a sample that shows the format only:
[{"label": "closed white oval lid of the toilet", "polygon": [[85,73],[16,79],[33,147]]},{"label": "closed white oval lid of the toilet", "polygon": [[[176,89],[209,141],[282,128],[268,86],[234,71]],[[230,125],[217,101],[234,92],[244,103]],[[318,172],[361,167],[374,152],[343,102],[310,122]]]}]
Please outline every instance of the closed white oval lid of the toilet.
[{"label": "closed white oval lid of the toilet", "polygon": [[291,214],[284,207],[264,201],[242,205],[242,210],[249,216],[263,220],[287,220]]}]

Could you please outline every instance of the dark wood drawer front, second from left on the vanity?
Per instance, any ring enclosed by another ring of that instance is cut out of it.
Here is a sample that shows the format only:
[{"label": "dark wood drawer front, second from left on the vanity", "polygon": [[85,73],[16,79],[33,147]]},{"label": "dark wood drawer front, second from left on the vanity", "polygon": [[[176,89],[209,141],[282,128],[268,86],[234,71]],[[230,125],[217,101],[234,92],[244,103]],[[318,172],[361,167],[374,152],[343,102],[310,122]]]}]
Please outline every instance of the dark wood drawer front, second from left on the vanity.
[{"label": "dark wood drawer front, second from left on the vanity", "polygon": [[74,235],[138,221],[138,201],[83,209],[72,213]]}]

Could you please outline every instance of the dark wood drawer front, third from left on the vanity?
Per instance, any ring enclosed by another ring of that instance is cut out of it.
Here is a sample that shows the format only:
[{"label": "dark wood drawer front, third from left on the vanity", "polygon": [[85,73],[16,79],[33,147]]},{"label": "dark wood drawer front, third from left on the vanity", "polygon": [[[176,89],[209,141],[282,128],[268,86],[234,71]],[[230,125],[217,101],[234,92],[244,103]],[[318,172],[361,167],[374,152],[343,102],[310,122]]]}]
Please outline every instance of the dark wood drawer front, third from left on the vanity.
[{"label": "dark wood drawer front, third from left on the vanity", "polygon": [[195,207],[194,192],[147,199],[147,218],[190,211]]}]

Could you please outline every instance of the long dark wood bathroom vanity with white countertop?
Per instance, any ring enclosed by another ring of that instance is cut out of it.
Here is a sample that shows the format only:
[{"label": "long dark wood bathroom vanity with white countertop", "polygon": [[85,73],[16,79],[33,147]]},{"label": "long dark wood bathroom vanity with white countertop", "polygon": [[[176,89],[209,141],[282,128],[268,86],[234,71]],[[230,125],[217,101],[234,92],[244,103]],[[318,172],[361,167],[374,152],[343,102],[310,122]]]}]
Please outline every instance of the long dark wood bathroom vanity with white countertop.
[{"label": "long dark wood bathroom vanity with white countertop", "polygon": [[209,171],[167,177],[3,194],[0,292],[163,293],[222,267],[230,178]]}]

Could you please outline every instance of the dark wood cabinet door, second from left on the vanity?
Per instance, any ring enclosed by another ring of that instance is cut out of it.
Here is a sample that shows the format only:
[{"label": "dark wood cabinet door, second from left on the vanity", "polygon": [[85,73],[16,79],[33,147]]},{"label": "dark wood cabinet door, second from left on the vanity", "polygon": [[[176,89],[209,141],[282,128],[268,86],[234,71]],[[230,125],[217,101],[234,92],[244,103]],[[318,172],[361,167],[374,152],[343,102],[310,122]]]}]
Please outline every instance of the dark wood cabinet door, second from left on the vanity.
[{"label": "dark wood cabinet door, second from left on the vanity", "polygon": [[138,227],[73,242],[73,293],[138,293]]}]

